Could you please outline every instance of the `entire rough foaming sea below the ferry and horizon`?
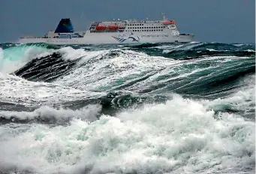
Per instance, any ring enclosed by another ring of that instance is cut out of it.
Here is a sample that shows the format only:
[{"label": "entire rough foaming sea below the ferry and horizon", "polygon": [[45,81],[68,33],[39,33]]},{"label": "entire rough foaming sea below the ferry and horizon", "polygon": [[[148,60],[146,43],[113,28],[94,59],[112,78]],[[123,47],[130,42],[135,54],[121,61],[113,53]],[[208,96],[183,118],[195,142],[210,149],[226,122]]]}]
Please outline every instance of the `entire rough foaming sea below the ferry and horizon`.
[{"label": "entire rough foaming sea below the ferry and horizon", "polygon": [[254,44],[0,44],[0,173],[254,172]]}]

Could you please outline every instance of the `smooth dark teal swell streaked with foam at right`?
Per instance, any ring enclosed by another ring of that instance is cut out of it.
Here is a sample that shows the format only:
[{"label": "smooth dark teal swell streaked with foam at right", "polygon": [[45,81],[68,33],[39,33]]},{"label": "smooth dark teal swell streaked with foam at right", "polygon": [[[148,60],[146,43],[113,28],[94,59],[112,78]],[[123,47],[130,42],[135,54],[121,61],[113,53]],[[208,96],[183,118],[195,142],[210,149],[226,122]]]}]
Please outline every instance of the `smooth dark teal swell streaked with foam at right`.
[{"label": "smooth dark teal swell streaked with foam at right", "polygon": [[170,73],[158,76],[154,80],[155,84],[147,83],[148,86],[140,89],[140,93],[175,92],[197,98],[221,98],[230,95],[234,89],[248,85],[239,81],[255,74],[254,58],[233,58],[230,62],[222,61],[223,58],[187,64],[182,62],[175,68],[170,68]]}]

